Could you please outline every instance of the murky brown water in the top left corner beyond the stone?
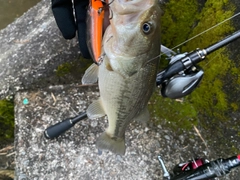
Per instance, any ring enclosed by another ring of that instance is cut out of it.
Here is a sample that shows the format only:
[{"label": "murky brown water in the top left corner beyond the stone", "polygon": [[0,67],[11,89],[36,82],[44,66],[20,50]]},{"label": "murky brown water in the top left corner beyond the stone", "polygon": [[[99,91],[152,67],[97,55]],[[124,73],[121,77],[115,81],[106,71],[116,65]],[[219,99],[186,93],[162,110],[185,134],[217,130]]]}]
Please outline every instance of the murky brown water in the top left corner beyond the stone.
[{"label": "murky brown water in the top left corner beyond the stone", "polygon": [[0,0],[0,29],[20,17],[40,0]]}]

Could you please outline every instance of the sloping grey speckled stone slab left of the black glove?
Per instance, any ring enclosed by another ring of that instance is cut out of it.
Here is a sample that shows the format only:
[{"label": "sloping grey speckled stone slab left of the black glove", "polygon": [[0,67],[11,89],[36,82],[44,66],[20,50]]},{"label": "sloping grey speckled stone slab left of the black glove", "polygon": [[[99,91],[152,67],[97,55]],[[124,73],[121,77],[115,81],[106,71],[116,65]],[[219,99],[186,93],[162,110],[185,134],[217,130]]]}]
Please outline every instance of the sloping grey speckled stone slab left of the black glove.
[{"label": "sloping grey speckled stone slab left of the black glove", "polygon": [[47,87],[58,65],[79,56],[76,39],[63,39],[49,0],[0,31],[0,99],[20,89]]}]

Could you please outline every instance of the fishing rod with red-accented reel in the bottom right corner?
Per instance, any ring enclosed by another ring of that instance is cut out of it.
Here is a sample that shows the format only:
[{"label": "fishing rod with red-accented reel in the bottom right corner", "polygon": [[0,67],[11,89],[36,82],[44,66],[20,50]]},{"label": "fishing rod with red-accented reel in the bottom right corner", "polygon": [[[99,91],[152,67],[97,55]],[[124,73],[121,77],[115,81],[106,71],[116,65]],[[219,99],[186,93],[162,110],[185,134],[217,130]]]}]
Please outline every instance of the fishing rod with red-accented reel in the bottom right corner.
[{"label": "fishing rod with red-accented reel in the bottom right corner", "polygon": [[233,168],[239,167],[240,155],[210,162],[203,158],[193,159],[177,164],[173,168],[173,174],[167,171],[161,156],[158,156],[158,161],[163,170],[164,180],[214,180],[216,177],[230,173]]}]

